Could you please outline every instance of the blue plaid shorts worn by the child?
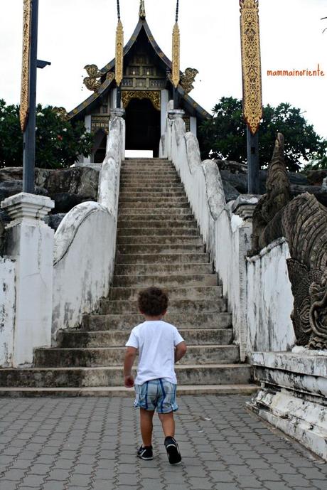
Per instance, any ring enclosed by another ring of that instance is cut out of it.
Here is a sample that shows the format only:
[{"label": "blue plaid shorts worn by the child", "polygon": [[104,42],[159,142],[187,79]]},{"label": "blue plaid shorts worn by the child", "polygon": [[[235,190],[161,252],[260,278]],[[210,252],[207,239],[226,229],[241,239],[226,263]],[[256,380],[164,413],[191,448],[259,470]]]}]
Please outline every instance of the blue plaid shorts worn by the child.
[{"label": "blue plaid shorts worn by the child", "polygon": [[135,385],[135,408],[158,413],[169,413],[178,410],[176,403],[176,385],[165,378],[146,381]]}]

